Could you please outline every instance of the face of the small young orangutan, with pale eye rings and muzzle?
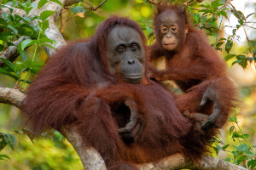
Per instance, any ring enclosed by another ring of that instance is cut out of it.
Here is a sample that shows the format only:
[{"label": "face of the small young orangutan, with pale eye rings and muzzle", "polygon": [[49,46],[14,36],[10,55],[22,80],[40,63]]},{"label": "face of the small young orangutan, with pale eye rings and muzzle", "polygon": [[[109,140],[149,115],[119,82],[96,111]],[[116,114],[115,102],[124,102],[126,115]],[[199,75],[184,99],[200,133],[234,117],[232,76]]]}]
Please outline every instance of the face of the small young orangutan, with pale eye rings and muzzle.
[{"label": "face of the small young orangutan, with pale eye rings and muzzle", "polygon": [[[158,16],[160,20],[160,36],[161,36],[161,44],[162,47],[168,51],[175,50],[181,39],[181,32],[178,25],[177,20],[179,17],[172,10],[167,10]],[[184,33],[188,33],[188,29],[186,28]]]}]

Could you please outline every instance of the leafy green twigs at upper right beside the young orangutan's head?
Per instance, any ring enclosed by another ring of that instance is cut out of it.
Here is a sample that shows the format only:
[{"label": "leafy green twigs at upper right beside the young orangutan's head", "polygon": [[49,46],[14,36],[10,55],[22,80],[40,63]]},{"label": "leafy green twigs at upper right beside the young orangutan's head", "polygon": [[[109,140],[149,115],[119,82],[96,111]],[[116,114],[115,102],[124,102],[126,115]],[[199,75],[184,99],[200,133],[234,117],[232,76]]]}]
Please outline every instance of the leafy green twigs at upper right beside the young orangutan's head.
[{"label": "leafy green twigs at upper right beside the young orangutan's head", "polygon": [[[248,57],[247,53],[252,50],[253,45],[249,44],[250,47],[245,54],[230,54],[230,51],[233,47],[234,39],[239,39],[239,36],[236,36],[236,31],[244,26],[247,19],[255,13],[248,14],[245,16],[241,11],[236,10],[234,7],[228,7],[223,0],[215,0],[211,1],[211,3],[203,2],[200,4],[194,3],[188,7],[190,13],[193,14],[194,24],[198,26],[200,29],[207,31],[207,35],[216,37],[216,42],[212,44],[214,48],[222,51],[222,46],[224,45],[224,50],[227,53],[225,56],[226,60],[235,59],[232,65],[238,64],[243,68],[247,67],[248,62],[256,61],[256,56],[253,54],[253,57]],[[198,8],[195,10],[193,8]],[[228,14],[234,14],[237,18],[236,28],[233,28],[232,35],[228,38],[220,38],[218,39],[218,31],[222,24],[222,20],[224,18],[228,19]],[[217,25],[218,23],[218,25]]]}]

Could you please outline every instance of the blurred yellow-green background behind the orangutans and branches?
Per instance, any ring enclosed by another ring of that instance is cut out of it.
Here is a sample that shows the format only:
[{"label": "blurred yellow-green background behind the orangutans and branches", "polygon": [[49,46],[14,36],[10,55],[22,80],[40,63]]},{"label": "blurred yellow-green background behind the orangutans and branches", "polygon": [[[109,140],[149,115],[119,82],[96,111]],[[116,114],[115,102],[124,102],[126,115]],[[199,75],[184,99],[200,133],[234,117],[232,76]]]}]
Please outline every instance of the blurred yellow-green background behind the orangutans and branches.
[{"label": "blurred yellow-green background behind the orangutans and branches", "polygon": [[[88,3],[97,4],[101,3],[100,0],[88,1]],[[211,2],[211,1],[207,1]],[[240,2],[240,0],[234,0],[234,3]],[[237,3],[236,8],[239,8],[240,3]],[[254,1],[255,3],[255,1]],[[234,4],[234,5],[235,5]],[[242,7],[248,8],[252,6],[252,1],[242,1]],[[240,6],[241,7],[241,6]],[[254,8],[255,10],[255,8]],[[74,16],[75,15],[75,16]],[[148,38],[148,44],[154,41],[152,39],[152,17],[154,15],[154,5],[145,3],[142,0],[108,0],[101,8],[96,11],[85,11],[85,13],[74,14],[72,11],[63,10],[61,19],[56,20],[56,25],[60,27],[61,33],[66,40],[76,40],[79,38],[87,38],[94,34],[96,26],[105,20],[110,15],[128,16],[132,20],[142,26],[145,35]],[[231,19],[231,16],[230,16]],[[255,21],[255,15],[253,19]],[[237,21],[237,20],[236,20]],[[61,23],[62,22],[62,26]],[[219,37],[227,37],[230,33],[225,30],[225,25],[229,25],[229,20],[224,20],[218,31]],[[248,37],[255,40],[255,30],[248,31]],[[231,49],[233,54],[242,54],[247,51],[247,41],[244,36],[244,32],[241,31],[241,39],[234,40],[234,47]],[[211,43],[216,42],[216,37],[209,36]],[[255,42],[255,41],[254,41]],[[255,44],[255,43],[254,43]],[[27,56],[33,52],[33,47],[27,49]],[[226,56],[226,52],[220,52],[222,56]],[[47,54],[44,51],[39,50],[38,60],[45,61]],[[234,59],[227,61],[227,65],[230,68],[230,77],[236,83],[240,92],[239,107],[234,111],[233,116],[237,116],[239,126],[243,133],[249,134],[247,141],[256,145],[256,71],[255,63],[247,65],[246,69],[243,69],[240,65],[232,65]],[[32,78],[32,77],[31,77]],[[15,81],[9,77],[0,75],[0,86],[13,88]],[[228,122],[221,131],[220,138],[224,141],[224,144],[240,144],[240,141],[231,139],[229,130],[234,125],[238,131],[239,127],[234,122]],[[0,104],[0,132],[12,133],[17,138],[17,144],[15,150],[12,150],[9,146],[0,151],[0,154],[8,155],[11,160],[0,160],[0,169],[4,170],[62,170],[62,169],[83,169],[79,156],[76,154],[73,147],[67,142],[67,139],[53,140],[48,135],[47,137],[41,137],[32,141],[26,136],[20,133],[15,133],[15,130],[20,130],[20,111],[14,106]],[[232,148],[230,148],[232,150]],[[212,156],[216,156],[212,152]],[[229,157],[229,152],[220,152],[218,157],[224,159]]]}]

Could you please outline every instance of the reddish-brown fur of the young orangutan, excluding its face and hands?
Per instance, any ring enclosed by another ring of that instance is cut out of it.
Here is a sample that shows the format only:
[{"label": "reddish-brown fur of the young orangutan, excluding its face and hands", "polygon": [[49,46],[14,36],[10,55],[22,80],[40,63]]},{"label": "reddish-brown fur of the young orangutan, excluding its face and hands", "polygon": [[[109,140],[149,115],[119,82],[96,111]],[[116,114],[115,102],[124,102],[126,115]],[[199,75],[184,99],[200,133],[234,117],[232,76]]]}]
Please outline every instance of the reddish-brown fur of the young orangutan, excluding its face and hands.
[{"label": "reddish-brown fur of the young orangutan, excluding its face and hands", "polygon": [[[181,43],[173,51],[167,51],[162,47],[160,20],[157,20],[160,14],[168,10],[177,14],[180,32],[184,32],[186,26],[189,30],[186,36],[185,33],[181,33]],[[223,127],[236,96],[235,87],[227,76],[224,60],[207,42],[204,33],[192,26],[184,8],[166,3],[158,5],[154,17],[154,32],[156,42],[149,48],[150,62],[154,63],[156,59],[165,56],[166,70],[156,71],[151,68],[153,77],[159,81],[173,80],[183,90],[184,94],[178,95],[176,99],[177,107],[182,112],[201,112],[210,115],[212,103],[207,102],[202,108],[199,105],[207,88],[212,90],[213,102],[218,104],[221,111],[216,126]]]}]

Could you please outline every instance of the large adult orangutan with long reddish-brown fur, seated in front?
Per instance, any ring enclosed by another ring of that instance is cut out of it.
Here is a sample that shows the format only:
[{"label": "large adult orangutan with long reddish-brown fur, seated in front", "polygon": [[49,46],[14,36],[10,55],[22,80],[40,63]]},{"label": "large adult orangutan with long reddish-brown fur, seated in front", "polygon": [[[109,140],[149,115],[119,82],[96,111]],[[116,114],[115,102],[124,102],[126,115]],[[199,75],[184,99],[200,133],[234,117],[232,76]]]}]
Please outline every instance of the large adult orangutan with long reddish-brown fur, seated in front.
[{"label": "large adult orangutan with long reddish-brown fur, seated in front", "polygon": [[134,170],[177,152],[199,158],[206,141],[172,94],[145,77],[145,42],[135,21],[112,17],[90,40],[61,48],[28,89],[28,127],[42,133],[72,124],[108,169]]}]

